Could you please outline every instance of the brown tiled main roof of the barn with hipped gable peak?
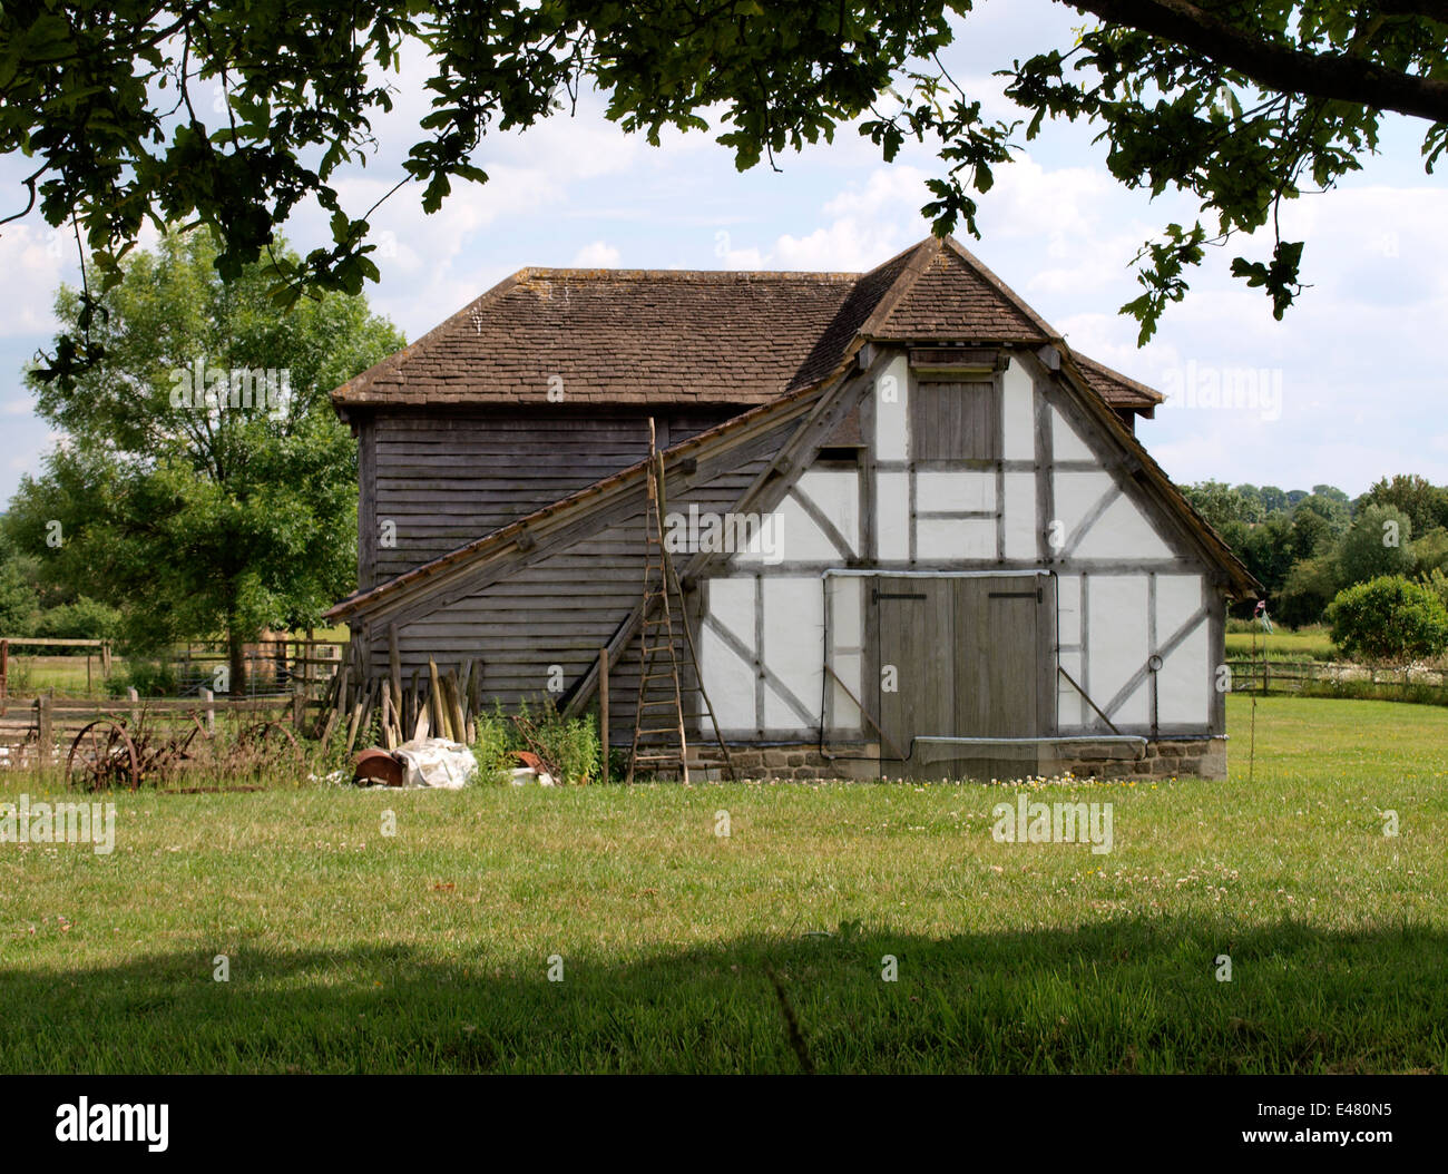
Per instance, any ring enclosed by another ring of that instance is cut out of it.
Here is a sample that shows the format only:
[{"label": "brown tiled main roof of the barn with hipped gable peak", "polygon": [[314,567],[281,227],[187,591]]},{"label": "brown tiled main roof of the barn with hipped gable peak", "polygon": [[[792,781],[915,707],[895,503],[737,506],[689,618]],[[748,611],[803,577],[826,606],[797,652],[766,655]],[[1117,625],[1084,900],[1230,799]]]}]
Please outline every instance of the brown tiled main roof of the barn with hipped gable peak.
[{"label": "brown tiled main roof of the barn with hipped gable peak", "polygon": [[[766,404],[837,373],[866,340],[1061,339],[953,239],[867,274],[521,269],[332,392],[348,407]],[[1108,402],[1140,384],[1092,365]],[[556,394],[556,392],[555,392]]]}]

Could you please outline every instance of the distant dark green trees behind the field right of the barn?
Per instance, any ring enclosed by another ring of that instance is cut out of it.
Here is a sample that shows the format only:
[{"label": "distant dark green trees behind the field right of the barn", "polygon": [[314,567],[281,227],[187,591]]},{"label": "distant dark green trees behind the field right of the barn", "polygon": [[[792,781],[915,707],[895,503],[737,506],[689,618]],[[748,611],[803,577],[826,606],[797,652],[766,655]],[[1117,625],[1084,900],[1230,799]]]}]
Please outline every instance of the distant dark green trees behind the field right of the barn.
[{"label": "distant dark green trees behind the field right of the barn", "polygon": [[1263,585],[1277,622],[1322,622],[1339,592],[1381,576],[1448,602],[1448,486],[1399,473],[1355,499],[1332,485],[1203,481],[1183,492]]}]

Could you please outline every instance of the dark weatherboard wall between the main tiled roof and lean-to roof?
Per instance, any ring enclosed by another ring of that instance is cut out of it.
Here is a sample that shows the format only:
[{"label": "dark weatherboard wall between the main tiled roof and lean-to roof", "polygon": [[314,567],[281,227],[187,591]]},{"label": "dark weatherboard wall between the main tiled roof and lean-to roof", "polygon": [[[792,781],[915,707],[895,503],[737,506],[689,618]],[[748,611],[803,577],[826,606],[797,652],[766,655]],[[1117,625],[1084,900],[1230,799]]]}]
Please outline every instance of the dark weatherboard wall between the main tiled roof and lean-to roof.
[{"label": "dark weatherboard wall between the main tiled roof and lean-to roof", "polygon": [[[662,413],[660,447],[731,414]],[[379,411],[359,421],[358,443],[365,589],[641,460],[649,423],[647,414],[547,402],[514,413]]]}]

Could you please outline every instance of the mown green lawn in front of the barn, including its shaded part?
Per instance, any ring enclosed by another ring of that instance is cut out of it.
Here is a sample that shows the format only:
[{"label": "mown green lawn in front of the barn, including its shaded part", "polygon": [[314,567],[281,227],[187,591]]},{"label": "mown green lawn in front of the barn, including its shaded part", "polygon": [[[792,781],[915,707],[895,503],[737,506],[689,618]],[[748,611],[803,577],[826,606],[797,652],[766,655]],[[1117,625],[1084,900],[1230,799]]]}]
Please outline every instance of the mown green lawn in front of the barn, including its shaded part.
[{"label": "mown green lawn in front of the barn, including its shaded part", "polygon": [[0,1070],[1448,1071],[1448,712],[1263,699],[1251,785],[1228,712],[1229,782],[1043,789],[1105,856],[980,785],[119,795],[0,844]]}]

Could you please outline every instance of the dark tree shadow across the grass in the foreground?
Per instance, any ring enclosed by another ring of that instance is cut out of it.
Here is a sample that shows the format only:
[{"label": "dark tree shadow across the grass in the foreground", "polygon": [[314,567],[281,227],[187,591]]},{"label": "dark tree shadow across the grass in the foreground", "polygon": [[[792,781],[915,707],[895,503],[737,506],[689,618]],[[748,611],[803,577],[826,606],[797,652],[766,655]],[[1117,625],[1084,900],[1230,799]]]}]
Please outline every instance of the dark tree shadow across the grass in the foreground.
[{"label": "dark tree shadow across the grass in the foreground", "polygon": [[0,967],[0,1070],[1444,1071],[1445,947],[1409,925],[1119,918],[940,939],[844,925],[624,960],[565,953],[560,981],[553,951],[494,966],[481,939],[243,947],[223,983],[198,945],[91,970]]}]

